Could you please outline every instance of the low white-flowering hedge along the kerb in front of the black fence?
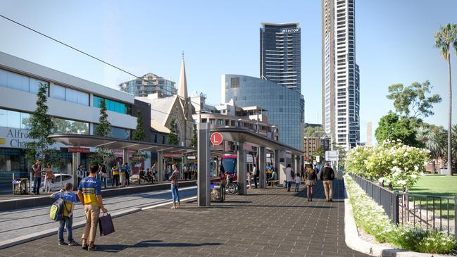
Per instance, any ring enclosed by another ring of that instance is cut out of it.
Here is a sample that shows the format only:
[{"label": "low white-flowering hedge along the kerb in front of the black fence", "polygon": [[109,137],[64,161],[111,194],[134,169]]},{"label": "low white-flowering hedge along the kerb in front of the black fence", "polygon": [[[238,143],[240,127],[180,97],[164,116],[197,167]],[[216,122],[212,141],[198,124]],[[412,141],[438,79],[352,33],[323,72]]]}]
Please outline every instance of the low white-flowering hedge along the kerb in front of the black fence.
[{"label": "low white-flowering hedge along the kerb in front of the black fence", "polygon": [[357,227],[373,235],[377,242],[394,244],[399,249],[421,253],[454,253],[457,242],[453,234],[426,231],[421,227],[395,226],[379,206],[349,175],[344,176]]}]

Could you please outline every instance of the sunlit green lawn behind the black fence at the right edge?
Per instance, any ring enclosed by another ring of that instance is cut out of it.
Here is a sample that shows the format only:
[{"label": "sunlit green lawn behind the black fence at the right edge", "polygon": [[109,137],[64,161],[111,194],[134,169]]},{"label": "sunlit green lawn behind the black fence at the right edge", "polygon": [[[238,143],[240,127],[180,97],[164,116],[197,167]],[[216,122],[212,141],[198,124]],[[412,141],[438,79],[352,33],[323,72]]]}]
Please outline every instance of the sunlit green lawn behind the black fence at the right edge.
[{"label": "sunlit green lawn behind the black fence at the right edge", "polygon": [[[420,180],[409,189],[409,192],[412,194],[427,194],[435,196],[457,196],[457,176],[452,177],[446,175],[425,175],[420,177]],[[411,201],[411,200],[410,200]],[[416,199],[416,204],[418,200]],[[428,209],[432,210],[432,199],[428,200]],[[449,201],[449,217],[447,215],[447,201],[442,200],[442,209],[443,209],[443,218],[454,218],[454,201]],[[422,199],[422,208],[426,208],[425,199]],[[439,208],[439,200],[435,200],[435,208]],[[435,209],[435,213],[439,215],[439,211]]]}]

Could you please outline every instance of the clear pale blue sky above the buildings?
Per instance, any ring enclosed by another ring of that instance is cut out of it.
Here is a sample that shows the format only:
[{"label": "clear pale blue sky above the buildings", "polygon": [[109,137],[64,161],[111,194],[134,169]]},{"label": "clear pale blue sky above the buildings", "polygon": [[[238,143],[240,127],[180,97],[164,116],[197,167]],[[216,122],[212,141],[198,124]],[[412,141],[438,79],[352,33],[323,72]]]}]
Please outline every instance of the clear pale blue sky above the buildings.
[{"label": "clear pale blue sky above the buildings", "polygon": [[[301,23],[301,93],[305,122],[322,123],[321,9],[297,1],[33,1],[0,0],[0,14],[128,70],[179,82],[185,54],[188,92],[219,104],[220,76],[259,77],[260,23]],[[440,25],[457,23],[454,0],[357,0],[356,63],[360,66],[361,142],[366,123],[393,109],[391,84],[430,80],[442,96],[427,123],[447,126],[447,63],[434,49]],[[118,88],[132,77],[0,18],[0,51],[85,80]],[[457,56],[453,92],[457,92]],[[453,97],[457,123],[457,96]],[[373,136],[374,139],[374,136]]]}]

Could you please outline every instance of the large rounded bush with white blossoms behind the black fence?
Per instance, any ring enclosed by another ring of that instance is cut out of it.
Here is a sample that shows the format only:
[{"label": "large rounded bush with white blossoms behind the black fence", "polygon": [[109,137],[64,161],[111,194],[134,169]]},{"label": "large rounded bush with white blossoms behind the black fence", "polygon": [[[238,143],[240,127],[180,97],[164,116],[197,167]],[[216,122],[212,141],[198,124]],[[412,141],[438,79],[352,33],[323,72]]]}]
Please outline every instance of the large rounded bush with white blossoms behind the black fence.
[{"label": "large rounded bush with white blossoms behind the black fence", "polygon": [[368,180],[413,186],[424,171],[429,151],[400,141],[384,141],[380,146],[359,146],[346,159],[346,170]]}]

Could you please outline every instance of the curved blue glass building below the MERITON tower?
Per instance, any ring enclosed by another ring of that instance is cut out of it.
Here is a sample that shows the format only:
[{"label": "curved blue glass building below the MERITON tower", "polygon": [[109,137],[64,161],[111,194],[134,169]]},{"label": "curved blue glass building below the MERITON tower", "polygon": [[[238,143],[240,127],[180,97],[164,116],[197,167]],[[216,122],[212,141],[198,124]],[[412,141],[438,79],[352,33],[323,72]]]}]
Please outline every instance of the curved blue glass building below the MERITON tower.
[{"label": "curved blue glass building below the MERITON tower", "polygon": [[303,95],[280,84],[244,75],[222,75],[224,103],[237,106],[259,106],[268,110],[268,123],[280,126],[280,142],[303,149]]}]

